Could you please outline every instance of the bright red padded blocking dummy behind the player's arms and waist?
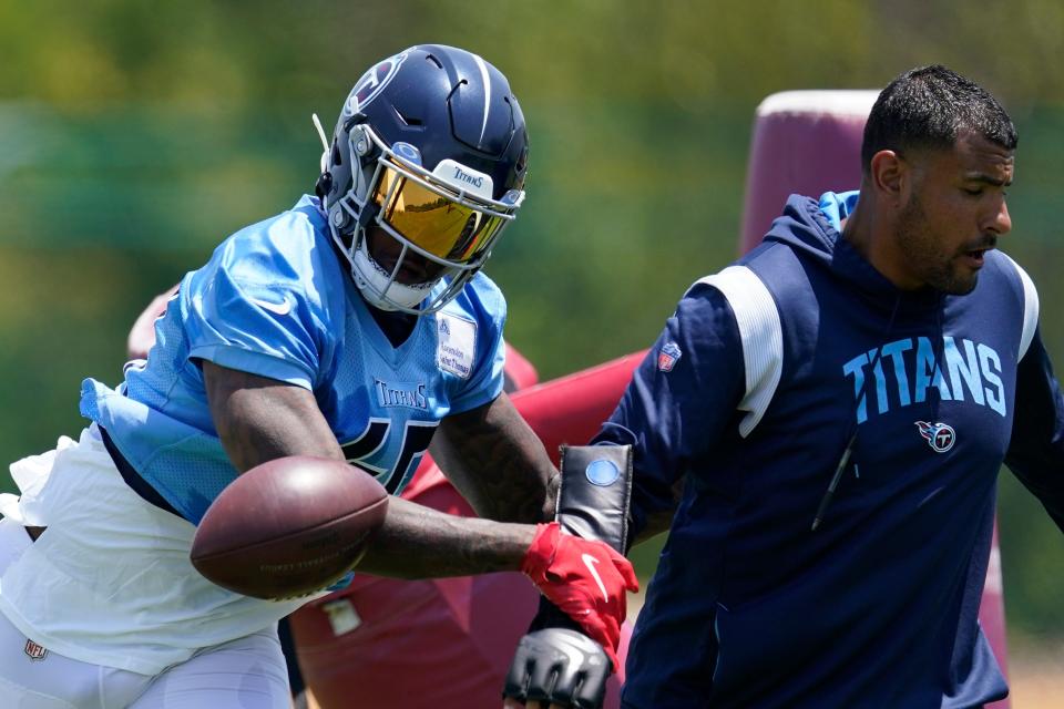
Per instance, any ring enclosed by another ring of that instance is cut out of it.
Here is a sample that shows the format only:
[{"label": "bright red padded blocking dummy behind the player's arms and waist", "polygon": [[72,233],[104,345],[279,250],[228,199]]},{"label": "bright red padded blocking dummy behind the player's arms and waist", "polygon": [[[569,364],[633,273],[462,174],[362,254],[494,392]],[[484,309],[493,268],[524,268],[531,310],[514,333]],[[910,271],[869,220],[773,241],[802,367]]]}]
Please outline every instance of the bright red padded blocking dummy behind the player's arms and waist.
[{"label": "bright red padded blocking dummy behind the player's arms and waist", "polygon": [[[156,296],[136,318],[126,338],[129,359],[147,357],[155,320],[176,290]],[[505,357],[503,391],[513,394],[538,382],[535,368],[509,342]],[[548,451],[561,441],[586,440],[612,411],[636,361],[630,356],[546,382],[532,397],[514,398],[514,405]],[[573,387],[579,395],[572,395]],[[401,496],[449,514],[475,514],[431,458]],[[536,595],[519,574],[421,580],[356,575],[349,586],[308,603],[278,626],[295,706],[493,706]],[[620,705],[630,635],[625,623],[604,709]]]}]

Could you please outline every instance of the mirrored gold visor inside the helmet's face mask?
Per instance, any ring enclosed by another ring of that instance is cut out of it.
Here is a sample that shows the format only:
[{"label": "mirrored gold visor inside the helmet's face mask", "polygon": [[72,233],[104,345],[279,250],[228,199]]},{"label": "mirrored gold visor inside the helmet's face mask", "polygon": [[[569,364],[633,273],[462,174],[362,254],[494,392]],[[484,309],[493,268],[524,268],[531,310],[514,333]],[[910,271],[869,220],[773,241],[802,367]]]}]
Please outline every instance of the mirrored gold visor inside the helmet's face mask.
[{"label": "mirrored gold visor inside the helmet's face mask", "polygon": [[437,258],[458,264],[477,260],[512,217],[456,202],[430,189],[388,163],[374,191],[380,218],[415,246]]}]

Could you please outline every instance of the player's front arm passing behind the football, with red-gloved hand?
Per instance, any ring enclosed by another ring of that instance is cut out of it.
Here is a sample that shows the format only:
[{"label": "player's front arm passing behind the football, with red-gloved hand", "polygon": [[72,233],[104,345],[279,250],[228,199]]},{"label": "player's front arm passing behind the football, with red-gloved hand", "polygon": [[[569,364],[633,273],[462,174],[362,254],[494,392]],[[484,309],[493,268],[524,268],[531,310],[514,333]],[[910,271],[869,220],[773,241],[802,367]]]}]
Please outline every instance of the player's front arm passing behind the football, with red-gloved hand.
[{"label": "player's front arm passing behind the football, with red-gloved hand", "polygon": [[[215,428],[238,471],[288,455],[345,460],[309,391],[208,361],[203,376]],[[591,637],[615,649],[635,573],[607,545],[557,532],[556,523],[459,517],[395,497],[359,569],[399,578],[521,571]]]}]

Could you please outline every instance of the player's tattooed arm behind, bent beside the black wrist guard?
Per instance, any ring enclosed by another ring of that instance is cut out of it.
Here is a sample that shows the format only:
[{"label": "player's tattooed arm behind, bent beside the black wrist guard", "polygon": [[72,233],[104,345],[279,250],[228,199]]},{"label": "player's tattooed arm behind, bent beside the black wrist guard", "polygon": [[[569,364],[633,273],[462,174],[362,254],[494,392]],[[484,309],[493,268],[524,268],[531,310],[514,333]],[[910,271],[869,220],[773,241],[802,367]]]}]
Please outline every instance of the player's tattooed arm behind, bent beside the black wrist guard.
[{"label": "player's tattooed arm behind, bent beside the black wrist guard", "polygon": [[440,422],[432,459],[481,517],[554,518],[557,470],[505,393]]}]

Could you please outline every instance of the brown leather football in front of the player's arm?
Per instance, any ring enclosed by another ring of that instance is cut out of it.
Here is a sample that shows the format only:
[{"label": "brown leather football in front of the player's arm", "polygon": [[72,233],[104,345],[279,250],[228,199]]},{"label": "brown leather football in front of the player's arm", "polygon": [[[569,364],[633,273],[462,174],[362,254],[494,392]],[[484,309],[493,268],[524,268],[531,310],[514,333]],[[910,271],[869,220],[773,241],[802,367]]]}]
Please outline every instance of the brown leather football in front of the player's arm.
[{"label": "brown leather football in front of the player's arm", "polygon": [[387,508],[383,486],[349,463],[273,460],[239,475],[207,507],[192,565],[245,596],[305,596],[358,563]]}]

